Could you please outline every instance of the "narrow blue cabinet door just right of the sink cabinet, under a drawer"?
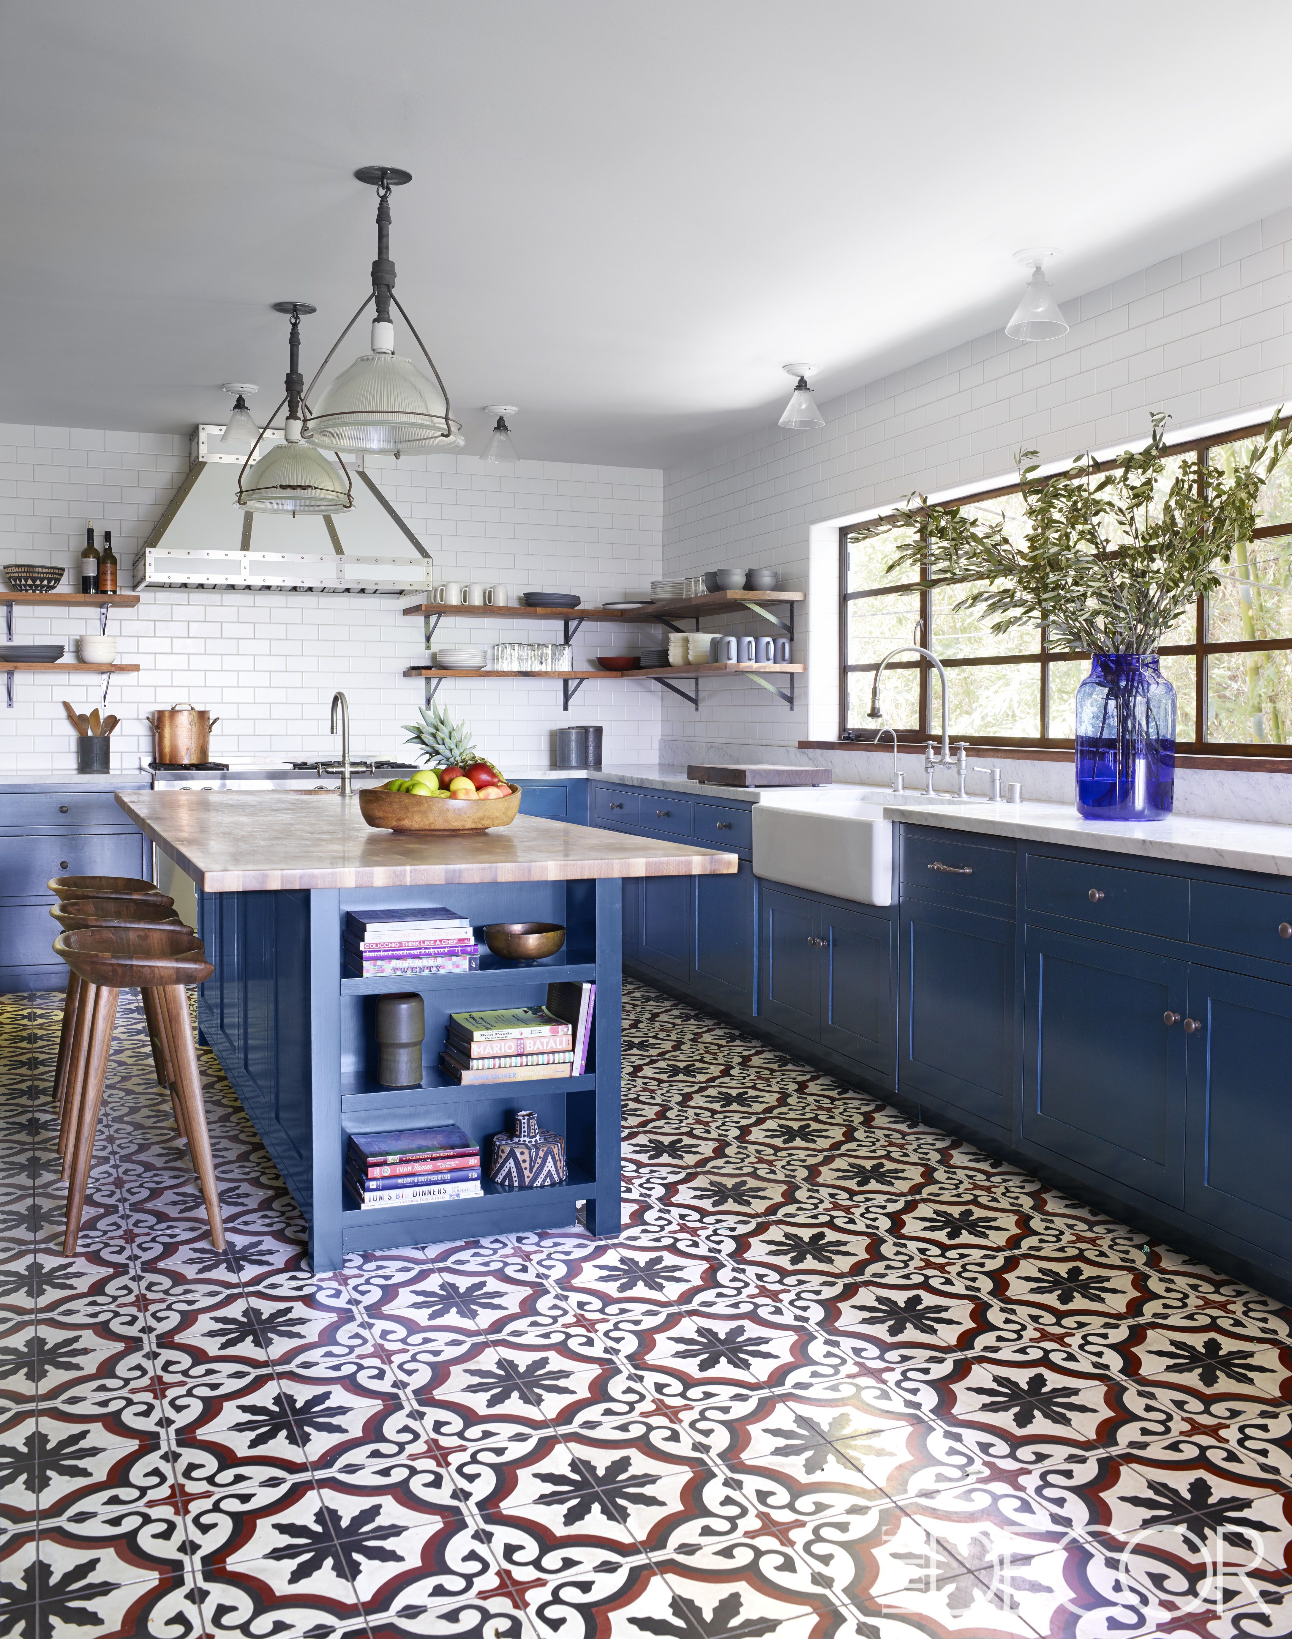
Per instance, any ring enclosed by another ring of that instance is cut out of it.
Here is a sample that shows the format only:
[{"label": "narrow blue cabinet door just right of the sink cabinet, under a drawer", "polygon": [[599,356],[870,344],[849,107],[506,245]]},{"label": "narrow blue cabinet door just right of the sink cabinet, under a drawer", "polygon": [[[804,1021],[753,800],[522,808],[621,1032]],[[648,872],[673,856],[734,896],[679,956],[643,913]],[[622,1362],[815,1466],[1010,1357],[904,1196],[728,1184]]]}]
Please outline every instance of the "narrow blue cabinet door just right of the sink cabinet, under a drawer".
[{"label": "narrow blue cabinet door just right of the sink cabinet, under a drawer", "polygon": [[900,939],[898,1090],[1007,1133],[1013,921],[912,900],[902,905]]}]

